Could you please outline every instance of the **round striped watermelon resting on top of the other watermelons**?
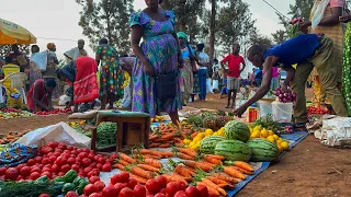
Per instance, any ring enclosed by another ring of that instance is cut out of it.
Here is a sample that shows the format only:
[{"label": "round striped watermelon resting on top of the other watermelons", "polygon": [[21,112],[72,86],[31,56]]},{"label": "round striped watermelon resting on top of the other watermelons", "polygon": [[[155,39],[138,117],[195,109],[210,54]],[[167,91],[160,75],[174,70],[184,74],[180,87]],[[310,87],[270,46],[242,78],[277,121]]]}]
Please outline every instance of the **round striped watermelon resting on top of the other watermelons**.
[{"label": "round striped watermelon resting on top of the other watermelons", "polygon": [[241,121],[231,120],[224,126],[226,139],[236,139],[246,142],[250,139],[250,128]]}]

